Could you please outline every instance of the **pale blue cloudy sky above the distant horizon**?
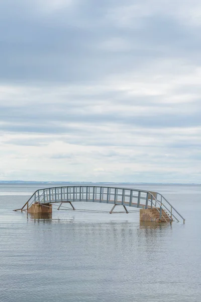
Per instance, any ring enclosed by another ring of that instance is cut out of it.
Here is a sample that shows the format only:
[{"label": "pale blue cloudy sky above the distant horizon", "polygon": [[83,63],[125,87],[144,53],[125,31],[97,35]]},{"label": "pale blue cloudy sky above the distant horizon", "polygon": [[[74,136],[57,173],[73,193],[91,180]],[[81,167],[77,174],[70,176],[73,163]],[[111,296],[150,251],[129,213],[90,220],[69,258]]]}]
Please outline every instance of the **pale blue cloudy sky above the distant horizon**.
[{"label": "pale blue cloudy sky above the distant horizon", "polygon": [[0,2],[0,180],[201,183],[199,0]]}]

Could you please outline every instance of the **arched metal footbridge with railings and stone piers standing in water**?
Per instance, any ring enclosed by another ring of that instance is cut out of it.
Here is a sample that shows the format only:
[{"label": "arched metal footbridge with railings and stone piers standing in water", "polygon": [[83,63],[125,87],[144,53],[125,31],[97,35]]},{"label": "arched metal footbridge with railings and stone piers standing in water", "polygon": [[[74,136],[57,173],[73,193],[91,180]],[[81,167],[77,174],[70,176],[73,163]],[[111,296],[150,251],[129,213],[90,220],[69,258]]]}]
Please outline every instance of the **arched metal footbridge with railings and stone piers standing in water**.
[{"label": "arched metal footbridge with railings and stone piers standing in water", "polygon": [[76,202],[99,202],[112,204],[110,213],[116,206],[122,205],[126,213],[127,207],[140,209],[142,221],[172,222],[185,219],[158,192],[106,187],[106,186],[62,186],[39,189],[29,198],[22,208],[14,211],[27,212],[51,212],[52,204],[58,204],[57,209],[62,209],[63,204],[68,203],[75,210]]}]

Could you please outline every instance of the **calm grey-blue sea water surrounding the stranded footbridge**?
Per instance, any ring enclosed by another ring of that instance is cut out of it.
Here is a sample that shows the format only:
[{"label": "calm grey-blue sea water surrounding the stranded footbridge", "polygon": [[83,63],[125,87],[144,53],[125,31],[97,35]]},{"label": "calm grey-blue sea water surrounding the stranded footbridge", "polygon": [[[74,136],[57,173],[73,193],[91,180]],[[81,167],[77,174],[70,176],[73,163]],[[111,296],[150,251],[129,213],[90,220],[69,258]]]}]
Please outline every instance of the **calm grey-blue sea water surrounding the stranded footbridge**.
[{"label": "calm grey-blue sea water surrounding the stranded footbridge", "polygon": [[163,194],[185,224],[86,202],[39,219],[13,210],[47,185],[0,184],[1,302],[201,302],[201,185],[113,186]]}]

